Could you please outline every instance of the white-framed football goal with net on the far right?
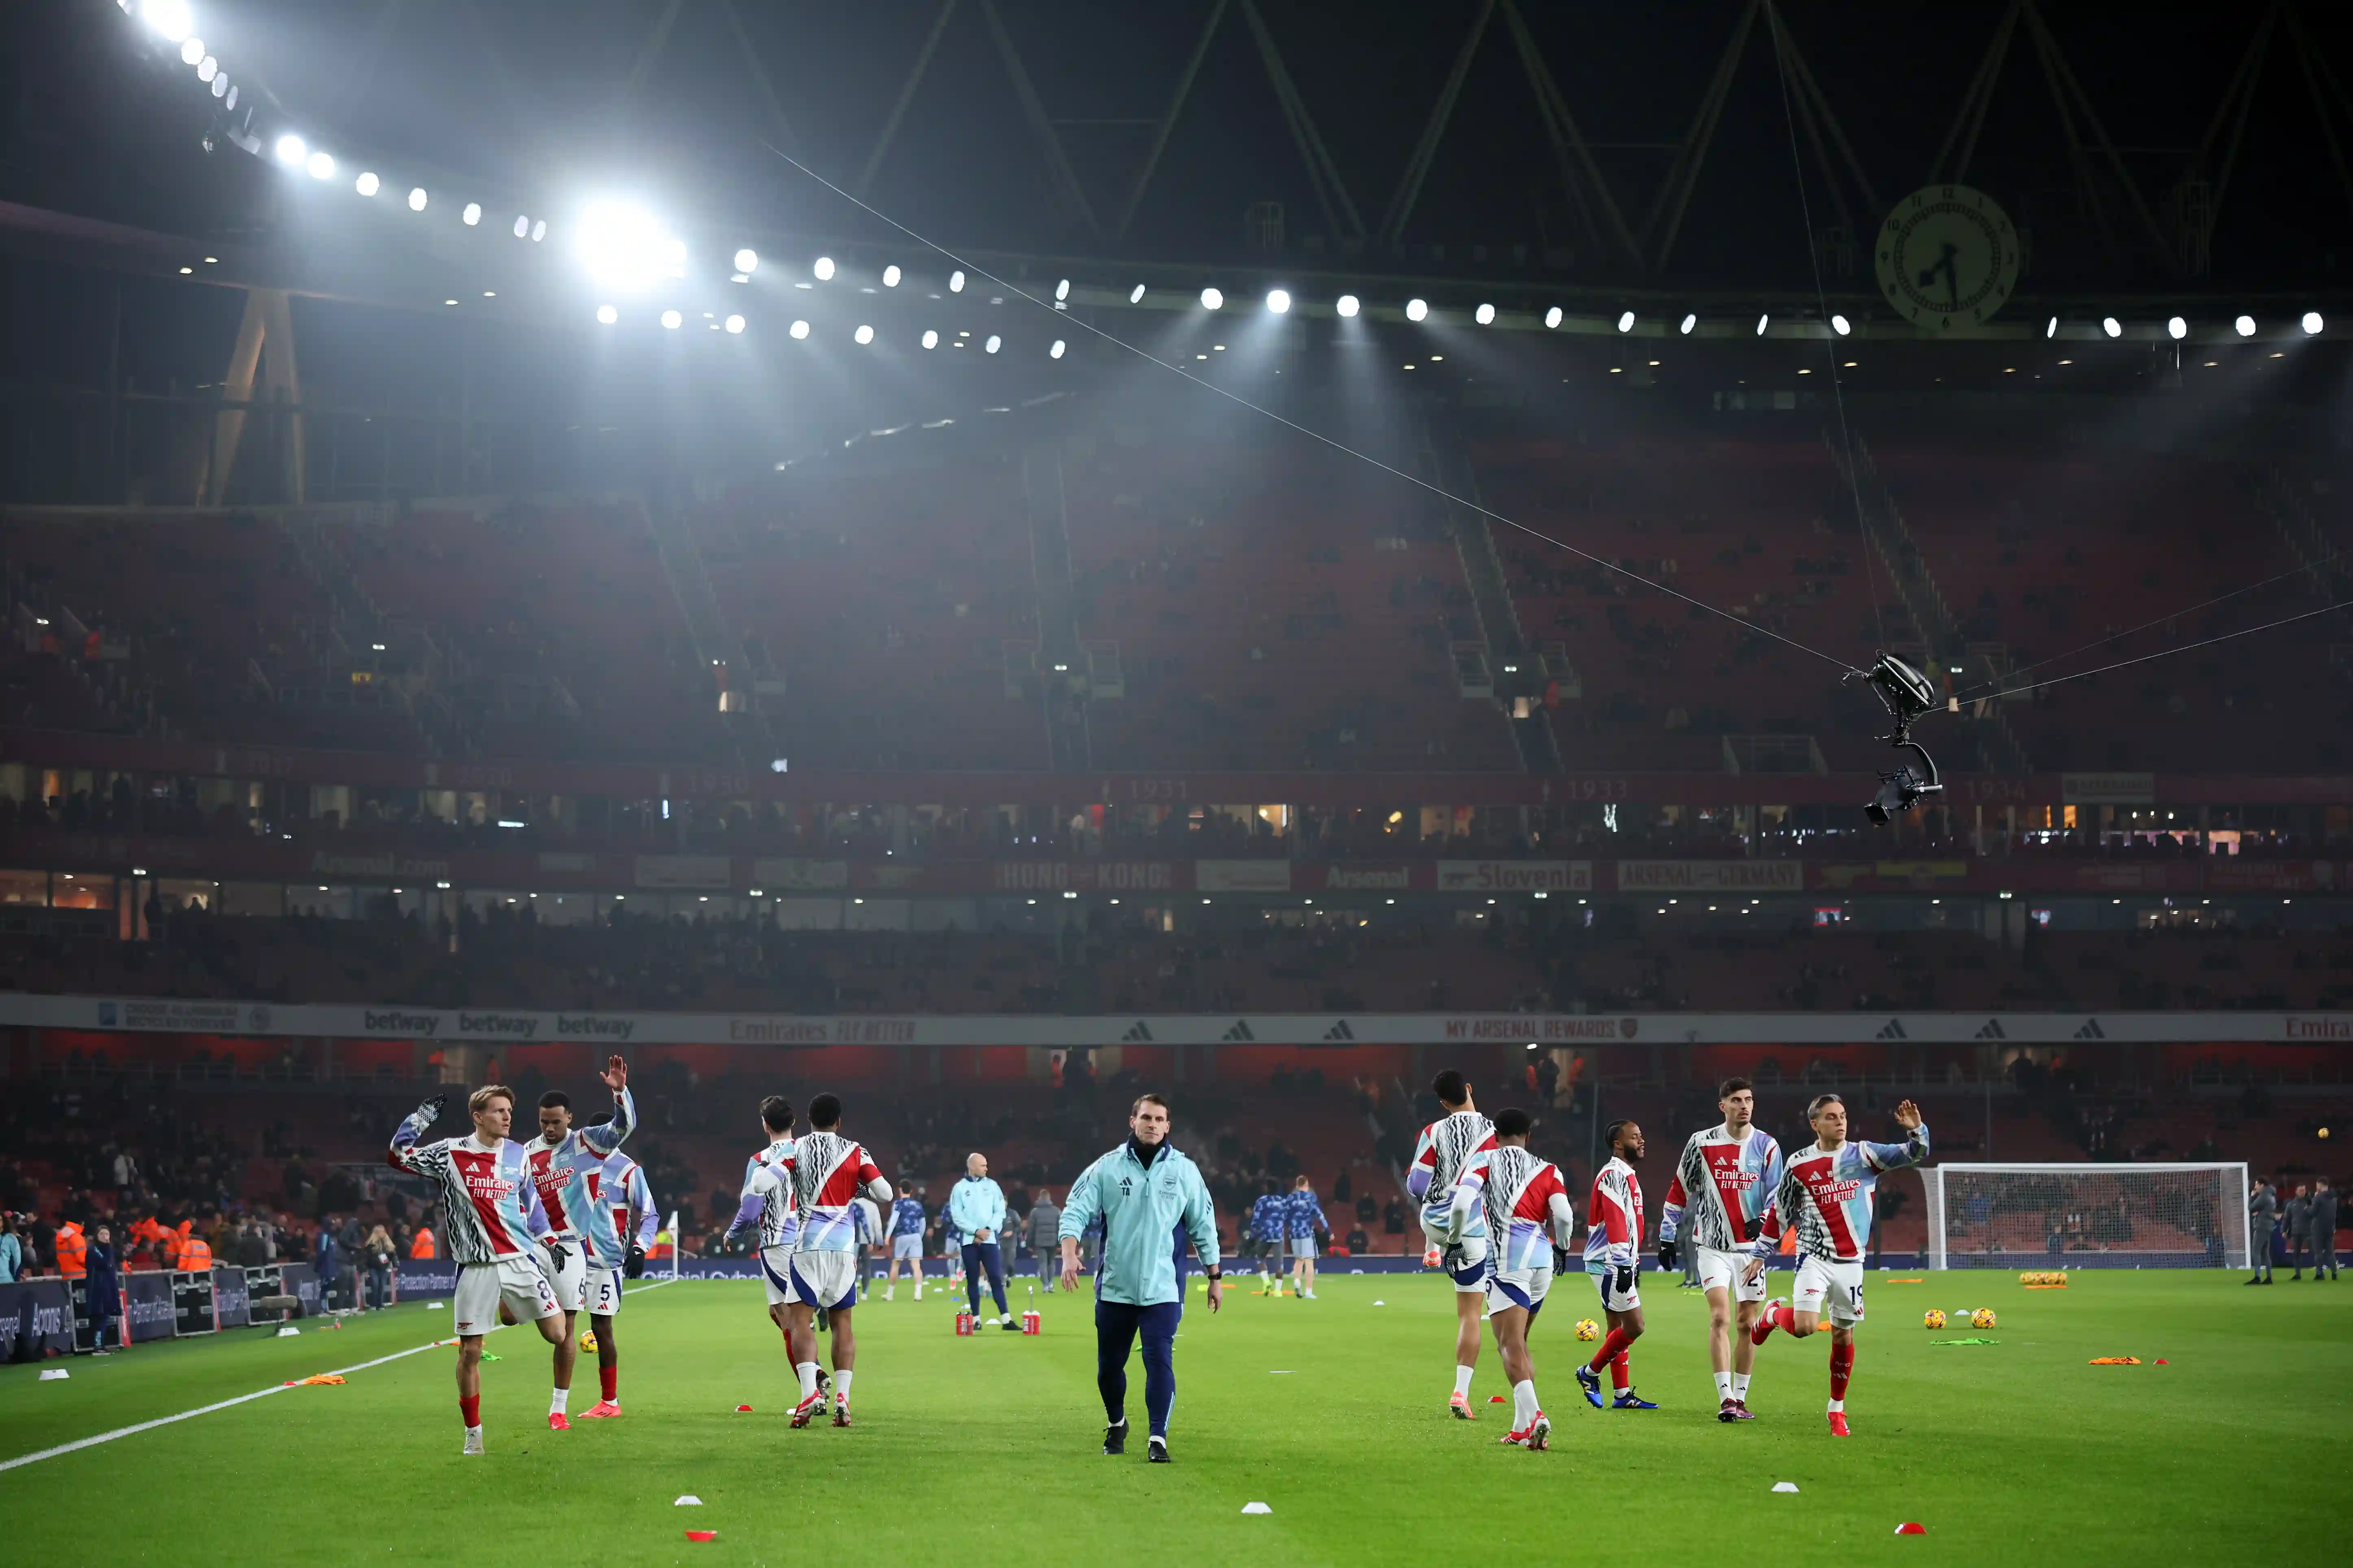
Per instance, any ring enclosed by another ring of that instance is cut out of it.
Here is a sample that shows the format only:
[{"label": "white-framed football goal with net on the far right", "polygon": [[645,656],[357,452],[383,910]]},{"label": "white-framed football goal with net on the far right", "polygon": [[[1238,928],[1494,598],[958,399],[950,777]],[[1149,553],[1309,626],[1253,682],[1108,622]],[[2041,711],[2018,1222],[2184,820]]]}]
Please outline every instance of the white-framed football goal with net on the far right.
[{"label": "white-framed football goal with net on the far right", "polygon": [[2245,1164],[1929,1166],[1934,1269],[2242,1269]]}]

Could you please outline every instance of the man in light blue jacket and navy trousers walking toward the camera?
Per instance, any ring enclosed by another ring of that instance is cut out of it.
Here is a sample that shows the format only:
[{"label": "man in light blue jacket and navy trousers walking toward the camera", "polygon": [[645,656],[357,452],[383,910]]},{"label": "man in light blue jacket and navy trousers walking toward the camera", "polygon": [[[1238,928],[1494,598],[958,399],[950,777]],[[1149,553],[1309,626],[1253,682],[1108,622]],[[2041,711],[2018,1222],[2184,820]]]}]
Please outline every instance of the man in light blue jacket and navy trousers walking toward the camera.
[{"label": "man in light blue jacket and navy trousers walking toward the camera", "polygon": [[1144,1338],[1144,1408],[1151,1415],[1146,1458],[1169,1462],[1169,1410],[1176,1406],[1176,1321],[1184,1286],[1169,1237],[1181,1222],[1209,1276],[1209,1312],[1224,1305],[1217,1213],[1200,1166],[1169,1147],[1169,1105],[1139,1095],[1127,1112],[1127,1143],[1071,1182],[1061,1208],[1061,1286],[1078,1288],[1078,1239],[1101,1215],[1104,1260],[1094,1272],[1094,1387],[1104,1394],[1104,1453],[1127,1453],[1127,1352]]}]

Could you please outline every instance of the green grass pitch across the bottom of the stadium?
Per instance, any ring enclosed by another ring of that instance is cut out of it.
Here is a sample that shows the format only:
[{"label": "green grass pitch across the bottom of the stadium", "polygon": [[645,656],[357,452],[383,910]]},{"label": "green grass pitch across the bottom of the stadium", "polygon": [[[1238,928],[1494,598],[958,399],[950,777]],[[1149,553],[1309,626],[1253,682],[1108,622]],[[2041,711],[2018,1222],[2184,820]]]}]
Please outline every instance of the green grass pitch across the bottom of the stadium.
[{"label": "green grass pitch across the bottom of the stadium", "polygon": [[[1786,1274],[1774,1276],[1786,1288]],[[758,1284],[678,1284],[621,1316],[624,1420],[553,1434],[546,1349],[499,1333],[482,1368],[485,1460],[459,1458],[454,1352],[428,1349],[231,1410],[0,1472],[12,1561],[384,1563],[494,1552],[626,1563],[1064,1563],[1202,1554],[1280,1563],[1628,1561],[1720,1540],[1784,1559],[2341,1561],[2353,1427],[2353,1284],[2245,1291],[2233,1274],[2014,1274],[1897,1286],[1873,1274],[1847,1413],[1826,1436],[1828,1342],[1774,1338],[1760,1420],[1720,1427],[1697,1293],[1647,1286],[1638,1387],[1657,1413],[1591,1410],[1569,1279],[1534,1333],[1555,1448],[1497,1446],[1508,1406],[1445,1418],[1452,1305],[1435,1279],[1334,1276],[1325,1300],[1195,1293],[1176,1342],[1172,1467],[1096,1453],[1087,1305],[1042,1298],[1045,1335],[958,1340],[951,1300],[859,1309],[859,1427],[791,1432],[791,1371]],[[1021,1293],[1016,1291],[1016,1307]],[[1374,1302],[1386,1305],[1374,1305]],[[1927,1307],[1988,1305],[1995,1347],[1939,1349]],[[0,1458],[247,1394],[445,1335],[424,1305],[294,1340],[261,1331],[75,1361],[68,1382],[0,1368]],[[2129,1354],[2144,1366],[2087,1366]],[[2153,1366],[2165,1356],[2167,1366]],[[1271,1375],[1282,1371],[1287,1375]],[[1129,1408],[1141,1432],[1144,1378]],[[1475,1396],[1504,1392],[1492,1349]],[[574,1410],[595,1401],[581,1359]],[[751,1403],[751,1415],[736,1415]],[[1802,1490],[1774,1495],[1774,1481]],[[696,1493],[699,1509],[671,1505]],[[1249,1500],[1273,1516],[1242,1516]],[[558,1512],[560,1509],[560,1512]],[[1899,1521],[1925,1540],[1892,1540]],[[715,1528],[715,1544],[685,1528]]]}]

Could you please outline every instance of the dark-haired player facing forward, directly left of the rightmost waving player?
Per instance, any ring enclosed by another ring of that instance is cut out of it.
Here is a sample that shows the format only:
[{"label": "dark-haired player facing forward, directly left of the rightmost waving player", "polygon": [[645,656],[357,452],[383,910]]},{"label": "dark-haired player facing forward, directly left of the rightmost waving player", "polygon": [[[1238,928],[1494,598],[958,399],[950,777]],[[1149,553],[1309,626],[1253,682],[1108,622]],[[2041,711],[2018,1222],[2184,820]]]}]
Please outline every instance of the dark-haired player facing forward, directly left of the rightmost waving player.
[{"label": "dark-haired player facing forward, directly left of the rightmost waving player", "polygon": [[[1765,1276],[1748,1279],[1748,1244],[1765,1222],[1765,1204],[1781,1185],[1781,1145],[1755,1126],[1758,1095],[1748,1079],[1725,1079],[1715,1091],[1722,1126],[1692,1133],[1675,1161],[1659,1211],[1659,1267],[1675,1267],[1689,1246],[1699,1288],[1708,1298],[1708,1361],[1715,1366],[1715,1420],[1755,1420],[1748,1413],[1748,1340],[1765,1309]],[[1678,1232],[1687,1232],[1678,1241]],[[1739,1302],[1734,1307],[1734,1302]],[[1734,1333],[1734,1312],[1739,1333]]]}]

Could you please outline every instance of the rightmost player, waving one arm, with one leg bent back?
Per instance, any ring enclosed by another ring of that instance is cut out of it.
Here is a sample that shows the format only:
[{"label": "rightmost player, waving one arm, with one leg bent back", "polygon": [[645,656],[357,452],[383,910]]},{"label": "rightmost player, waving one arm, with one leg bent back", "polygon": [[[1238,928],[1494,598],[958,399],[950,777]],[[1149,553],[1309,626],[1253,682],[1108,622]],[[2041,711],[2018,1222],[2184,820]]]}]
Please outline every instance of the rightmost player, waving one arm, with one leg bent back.
[{"label": "rightmost player, waving one arm, with one leg bent back", "polygon": [[1847,1378],[1854,1375],[1854,1326],[1864,1321],[1864,1248],[1871,1244],[1871,1211],[1880,1175],[1927,1159],[1927,1124],[1911,1100],[1897,1105],[1904,1143],[1849,1143],[1847,1103],[1817,1095],[1805,1107],[1814,1143],[1788,1157],[1788,1168],[1765,1206],[1765,1222],[1748,1279],[1765,1279],[1765,1260],[1784,1229],[1798,1234],[1798,1286],[1791,1300],[1765,1302],[1751,1331],[1762,1345],[1779,1328],[1807,1338],[1831,1319],[1831,1436],[1847,1432]]}]

